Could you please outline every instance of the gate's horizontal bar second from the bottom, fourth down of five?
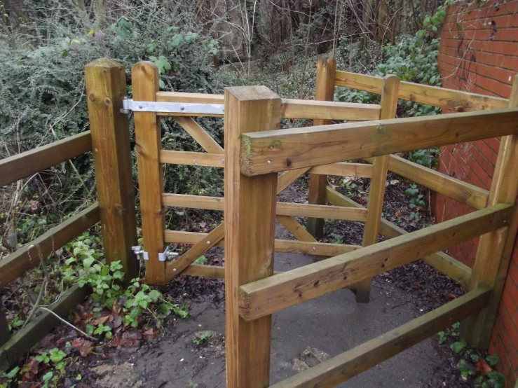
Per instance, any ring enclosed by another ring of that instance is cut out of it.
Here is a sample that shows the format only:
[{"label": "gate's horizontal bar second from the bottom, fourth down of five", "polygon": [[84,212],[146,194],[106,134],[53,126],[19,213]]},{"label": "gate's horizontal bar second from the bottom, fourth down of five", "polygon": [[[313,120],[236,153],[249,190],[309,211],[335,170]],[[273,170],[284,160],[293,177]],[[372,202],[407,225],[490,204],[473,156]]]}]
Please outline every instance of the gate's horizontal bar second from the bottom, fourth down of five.
[{"label": "gate's horizontal bar second from the bottom, fourth down of five", "polygon": [[[207,237],[207,233],[185,232],[183,230],[165,230],[164,234],[165,242],[189,245],[197,244],[198,242],[203,240],[204,237]],[[224,240],[221,240],[214,245],[214,247],[224,246]],[[305,242],[275,239],[275,252],[283,252],[289,254],[336,256],[360,248],[360,245],[331,244],[327,242]]]}]

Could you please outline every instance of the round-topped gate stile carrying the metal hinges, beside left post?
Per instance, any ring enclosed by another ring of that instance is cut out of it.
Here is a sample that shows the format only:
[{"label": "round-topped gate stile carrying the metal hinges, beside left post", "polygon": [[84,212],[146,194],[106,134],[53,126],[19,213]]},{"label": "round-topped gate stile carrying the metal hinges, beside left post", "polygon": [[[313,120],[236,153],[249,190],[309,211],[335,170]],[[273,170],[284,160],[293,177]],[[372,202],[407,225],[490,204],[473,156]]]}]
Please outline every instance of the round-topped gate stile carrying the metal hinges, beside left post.
[{"label": "round-topped gate stile carrying the metal hinges, beside left post", "polygon": [[[138,62],[131,68],[133,99],[156,101],[158,67],[153,62]],[[159,154],[162,148],[160,118],[154,112],[135,112],[135,141],[139,176],[140,209],[146,261],[146,282],[166,284],[164,251],[165,218],[162,207],[163,173]]]}]

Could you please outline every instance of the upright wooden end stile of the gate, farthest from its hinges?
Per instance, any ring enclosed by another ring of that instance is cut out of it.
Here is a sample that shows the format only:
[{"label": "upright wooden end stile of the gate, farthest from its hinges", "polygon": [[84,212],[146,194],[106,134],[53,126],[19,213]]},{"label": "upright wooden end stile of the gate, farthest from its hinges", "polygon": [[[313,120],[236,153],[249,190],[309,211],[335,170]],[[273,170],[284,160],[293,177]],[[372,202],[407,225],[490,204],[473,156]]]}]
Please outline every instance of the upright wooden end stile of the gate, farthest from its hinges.
[{"label": "upright wooden end stile of the gate, farthest from its hinges", "polygon": [[[400,78],[397,76],[386,76],[383,78],[383,90],[381,92],[381,113],[382,120],[395,118],[397,109],[397,93],[400,88]],[[372,180],[369,188],[369,200],[367,201],[367,221],[363,230],[362,245],[367,247],[378,242],[379,226],[381,223],[381,210],[383,209],[383,198],[385,197],[385,183],[387,180],[388,161],[390,155],[383,155],[374,158],[372,165]],[[372,279],[365,279],[355,284],[356,301],[367,303],[370,299]]]}]

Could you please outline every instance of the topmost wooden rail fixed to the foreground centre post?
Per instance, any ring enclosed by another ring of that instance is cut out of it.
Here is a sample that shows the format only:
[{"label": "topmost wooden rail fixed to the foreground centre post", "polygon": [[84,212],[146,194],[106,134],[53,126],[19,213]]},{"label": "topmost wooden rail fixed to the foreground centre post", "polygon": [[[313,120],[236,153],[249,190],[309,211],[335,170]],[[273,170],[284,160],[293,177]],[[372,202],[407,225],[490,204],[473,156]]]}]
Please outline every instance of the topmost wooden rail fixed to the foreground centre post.
[{"label": "topmost wooden rail fixed to the foreground centre post", "polygon": [[291,128],[241,136],[249,176],[518,133],[518,109]]}]

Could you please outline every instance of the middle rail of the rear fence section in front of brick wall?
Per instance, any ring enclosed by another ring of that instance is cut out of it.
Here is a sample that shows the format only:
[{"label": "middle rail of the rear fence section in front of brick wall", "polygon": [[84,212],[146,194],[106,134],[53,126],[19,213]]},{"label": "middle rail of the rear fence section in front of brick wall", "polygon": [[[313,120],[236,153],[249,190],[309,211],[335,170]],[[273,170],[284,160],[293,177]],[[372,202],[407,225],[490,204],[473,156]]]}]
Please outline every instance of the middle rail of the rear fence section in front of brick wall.
[{"label": "middle rail of the rear fence section in front of brick wall", "polygon": [[[368,159],[367,161],[372,162]],[[390,155],[388,169],[474,209],[484,209],[489,191],[409,160]]]}]

